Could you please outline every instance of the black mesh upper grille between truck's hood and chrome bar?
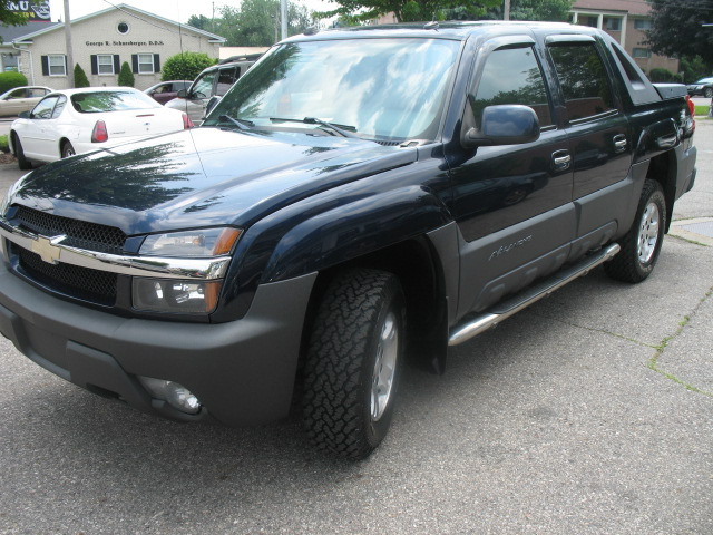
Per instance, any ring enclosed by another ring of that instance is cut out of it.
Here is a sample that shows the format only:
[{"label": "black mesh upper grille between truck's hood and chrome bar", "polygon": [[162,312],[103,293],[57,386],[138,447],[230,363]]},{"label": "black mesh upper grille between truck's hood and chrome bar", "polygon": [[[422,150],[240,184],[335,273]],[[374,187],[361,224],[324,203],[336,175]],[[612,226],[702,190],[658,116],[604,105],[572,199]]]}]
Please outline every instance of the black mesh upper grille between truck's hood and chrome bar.
[{"label": "black mesh upper grille between truck's hood and chrome bar", "polygon": [[115,226],[70,220],[27,206],[19,206],[16,217],[22,227],[37,234],[48,237],[66,234],[62,245],[113,254],[124,252],[126,234]]}]

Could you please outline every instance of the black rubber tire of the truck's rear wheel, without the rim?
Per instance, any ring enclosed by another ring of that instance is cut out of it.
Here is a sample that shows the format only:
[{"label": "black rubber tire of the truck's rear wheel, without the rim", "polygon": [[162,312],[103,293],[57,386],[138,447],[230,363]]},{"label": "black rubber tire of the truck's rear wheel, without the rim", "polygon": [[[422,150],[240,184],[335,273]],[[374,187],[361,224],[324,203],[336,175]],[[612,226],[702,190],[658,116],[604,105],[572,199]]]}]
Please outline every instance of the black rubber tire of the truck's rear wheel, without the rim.
[{"label": "black rubber tire of the truck's rear wheel, without the rim", "polygon": [[[638,260],[638,227],[641,225],[642,215],[649,201],[654,201],[658,205],[658,240],[656,250],[651,261],[642,264]],[[658,182],[646,179],[642,189],[642,195],[636,207],[634,223],[628,232],[618,241],[622,250],[609,262],[604,264],[604,271],[612,279],[624,282],[642,282],[654,269],[658,260],[658,253],[664,241],[664,228],[667,221],[666,197]]]}]

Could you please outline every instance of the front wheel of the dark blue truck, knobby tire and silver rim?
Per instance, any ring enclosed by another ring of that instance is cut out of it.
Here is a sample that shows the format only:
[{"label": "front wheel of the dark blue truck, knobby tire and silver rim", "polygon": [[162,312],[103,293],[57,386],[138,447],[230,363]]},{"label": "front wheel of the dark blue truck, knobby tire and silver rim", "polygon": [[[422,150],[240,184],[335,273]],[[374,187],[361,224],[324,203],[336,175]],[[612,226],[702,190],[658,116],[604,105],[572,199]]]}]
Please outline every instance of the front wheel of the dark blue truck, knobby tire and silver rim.
[{"label": "front wheel of the dark blue truck, knobby tire and silver rim", "polygon": [[362,459],[379,446],[391,424],[404,342],[395,275],[352,270],[331,282],[304,368],[303,420],[319,449]]}]

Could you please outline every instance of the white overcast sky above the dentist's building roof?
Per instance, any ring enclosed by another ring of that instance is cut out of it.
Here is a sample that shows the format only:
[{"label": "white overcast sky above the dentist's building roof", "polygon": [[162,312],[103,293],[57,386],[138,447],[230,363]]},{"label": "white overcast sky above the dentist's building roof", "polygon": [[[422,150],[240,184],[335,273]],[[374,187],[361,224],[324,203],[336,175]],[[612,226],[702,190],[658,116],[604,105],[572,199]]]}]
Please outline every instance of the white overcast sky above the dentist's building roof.
[{"label": "white overcast sky above the dentist's building roof", "polygon": [[[334,4],[322,0],[293,0],[296,3],[305,4],[310,10],[326,11],[334,9]],[[158,14],[176,22],[186,22],[192,14],[203,14],[212,17],[215,7],[215,14],[218,16],[219,8],[223,6],[240,7],[240,0],[69,0],[69,17],[72,19],[84,17],[85,14],[101,11],[114,6],[125,3],[134,6],[144,11]],[[49,0],[50,13],[52,21],[61,18],[65,19],[64,0]]]}]

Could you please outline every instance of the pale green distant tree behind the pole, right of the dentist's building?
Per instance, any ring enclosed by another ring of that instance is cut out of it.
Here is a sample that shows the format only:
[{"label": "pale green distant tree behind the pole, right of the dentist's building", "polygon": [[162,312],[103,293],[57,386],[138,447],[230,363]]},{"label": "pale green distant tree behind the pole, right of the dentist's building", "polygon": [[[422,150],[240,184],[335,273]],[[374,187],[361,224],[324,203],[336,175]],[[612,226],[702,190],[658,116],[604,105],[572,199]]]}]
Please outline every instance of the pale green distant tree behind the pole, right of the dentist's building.
[{"label": "pale green distant tree behind the pole, right of the dentist's building", "polygon": [[[225,6],[215,33],[227,47],[270,47],[280,40],[280,0],[243,0],[240,9]],[[287,35],[303,33],[315,19],[307,8],[287,2]]]}]

